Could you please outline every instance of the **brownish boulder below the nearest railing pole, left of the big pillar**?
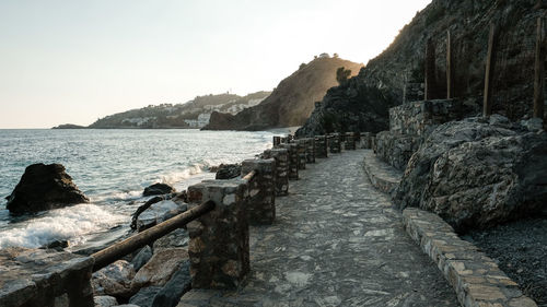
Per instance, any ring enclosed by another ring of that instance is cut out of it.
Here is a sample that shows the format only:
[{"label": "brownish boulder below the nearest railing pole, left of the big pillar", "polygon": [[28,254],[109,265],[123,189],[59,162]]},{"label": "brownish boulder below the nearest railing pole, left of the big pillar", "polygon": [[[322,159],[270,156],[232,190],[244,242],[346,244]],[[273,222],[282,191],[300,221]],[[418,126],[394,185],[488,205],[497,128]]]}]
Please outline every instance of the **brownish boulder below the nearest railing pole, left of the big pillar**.
[{"label": "brownish boulder below the nearest railing pole, left of the big pillar", "polygon": [[188,251],[184,248],[159,250],[152,256],[152,259],[137,272],[132,279],[132,287],[141,288],[152,285],[165,285],[187,259]]}]

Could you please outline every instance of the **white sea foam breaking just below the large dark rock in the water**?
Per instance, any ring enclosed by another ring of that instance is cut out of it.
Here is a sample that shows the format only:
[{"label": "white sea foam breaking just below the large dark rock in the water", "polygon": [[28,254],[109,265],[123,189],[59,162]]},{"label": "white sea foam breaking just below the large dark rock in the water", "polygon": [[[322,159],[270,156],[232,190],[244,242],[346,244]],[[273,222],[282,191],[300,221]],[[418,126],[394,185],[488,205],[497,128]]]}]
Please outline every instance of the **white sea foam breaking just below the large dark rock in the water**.
[{"label": "white sea foam breaking just below the large dark rock in the water", "polygon": [[37,248],[57,239],[79,245],[84,243],[89,235],[103,232],[127,220],[128,216],[110,213],[92,203],[51,210],[45,216],[14,224],[11,229],[0,231],[0,248],[10,246]]}]

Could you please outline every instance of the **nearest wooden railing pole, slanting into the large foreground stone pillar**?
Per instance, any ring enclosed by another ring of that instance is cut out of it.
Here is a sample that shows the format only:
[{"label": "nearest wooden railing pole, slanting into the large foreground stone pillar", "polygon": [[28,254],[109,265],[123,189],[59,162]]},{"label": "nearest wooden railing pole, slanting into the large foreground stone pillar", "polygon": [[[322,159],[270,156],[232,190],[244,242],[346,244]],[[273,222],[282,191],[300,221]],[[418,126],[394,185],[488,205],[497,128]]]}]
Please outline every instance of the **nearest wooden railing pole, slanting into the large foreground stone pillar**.
[{"label": "nearest wooden railing pole, slanting into the large foreground stone pillar", "polygon": [[183,227],[189,222],[198,219],[214,208],[213,201],[206,201],[184,213],[181,213],[165,222],[150,227],[135,236],[131,236],[120,243],[114,244],[103,250],[93,253],[91,257],[95,260],[93,272],[121,259],[121,257],[133,252],[138,248],[153,243],[164,235]]}]

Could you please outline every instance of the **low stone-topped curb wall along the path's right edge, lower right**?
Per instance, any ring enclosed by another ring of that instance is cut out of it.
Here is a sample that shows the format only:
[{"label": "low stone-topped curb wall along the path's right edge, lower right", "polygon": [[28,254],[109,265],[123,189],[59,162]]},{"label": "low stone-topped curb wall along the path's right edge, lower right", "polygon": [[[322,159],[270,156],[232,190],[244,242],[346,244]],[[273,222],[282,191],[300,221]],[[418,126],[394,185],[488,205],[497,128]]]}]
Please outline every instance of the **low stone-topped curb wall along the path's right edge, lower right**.
[{"label": "low stone-topped curb wall along the path's right edge, lower right", "polygon": [[454,287],[462,306],[537,307],[492,259],[462,240],[437,214],[409,208],[403,212],[403,222]]}]

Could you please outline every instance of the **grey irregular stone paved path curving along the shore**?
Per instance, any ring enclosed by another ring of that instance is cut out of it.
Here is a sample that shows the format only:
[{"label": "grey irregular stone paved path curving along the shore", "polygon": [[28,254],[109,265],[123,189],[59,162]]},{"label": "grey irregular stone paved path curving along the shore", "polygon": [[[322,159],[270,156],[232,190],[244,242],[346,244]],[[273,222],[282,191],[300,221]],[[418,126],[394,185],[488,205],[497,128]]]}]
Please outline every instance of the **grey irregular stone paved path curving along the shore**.
[{"label": "grey irregular stone paved path curving along the shore", "polygon": [[251,228],[252,273],[237,292],[191,291],[178,306],[458,306],[452,287],[364,175],[363,151],[307,165]]}]

